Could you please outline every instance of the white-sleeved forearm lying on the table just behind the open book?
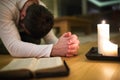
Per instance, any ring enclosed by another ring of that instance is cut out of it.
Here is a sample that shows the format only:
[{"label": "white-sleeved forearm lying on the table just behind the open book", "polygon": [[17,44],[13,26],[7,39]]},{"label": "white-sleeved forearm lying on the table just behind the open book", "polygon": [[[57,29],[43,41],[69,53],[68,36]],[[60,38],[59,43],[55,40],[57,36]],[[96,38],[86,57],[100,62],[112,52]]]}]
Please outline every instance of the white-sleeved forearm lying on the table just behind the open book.
[{"label": "white-sleeved forearm lying on the table just behind the open book", "polygon": [[52,44],[36,45],[22,41],[7,43],[5,46],[13,57],[50,57]]}]

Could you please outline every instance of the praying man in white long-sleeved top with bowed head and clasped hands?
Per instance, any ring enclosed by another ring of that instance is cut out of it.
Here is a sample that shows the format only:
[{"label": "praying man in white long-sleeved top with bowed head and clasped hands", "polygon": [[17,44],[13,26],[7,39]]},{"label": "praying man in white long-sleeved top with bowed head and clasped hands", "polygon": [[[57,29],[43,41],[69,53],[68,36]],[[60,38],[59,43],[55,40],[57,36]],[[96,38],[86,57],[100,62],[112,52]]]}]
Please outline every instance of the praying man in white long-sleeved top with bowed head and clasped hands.
[{"label": "praying man in white long-sleeved top with bowed head and clasped hands", "polygon": [[[9,53],[14,57],[70,57],[77,55],[79,48],[77,36],[68,32],[57,39],[51,31],[53,17],[43,6],[44,4],[39,0],[0,0],[0,38]],[[35,8],[40,8],[40,10]],[[30,13],[32,10],[36,15],[41,15],[41,17],[37,16],[42,18],[37,19],[40,21],[40,26],[37,26],[36,18],[28,16],[28,14],[34,14]],[[29,22],[31,19],[33,20]],[[22,28],[33,38],[43,37],[49,44],[38,45],[22,41],[18,28]]]}]

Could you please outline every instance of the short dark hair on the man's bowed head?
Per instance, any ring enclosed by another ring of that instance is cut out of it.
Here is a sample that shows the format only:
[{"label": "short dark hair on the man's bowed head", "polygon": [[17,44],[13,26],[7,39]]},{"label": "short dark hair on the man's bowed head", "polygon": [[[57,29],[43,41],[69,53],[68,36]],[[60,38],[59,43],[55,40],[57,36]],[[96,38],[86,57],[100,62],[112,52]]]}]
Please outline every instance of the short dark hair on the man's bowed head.
[{"label": "short dark hair on the man's bowed head", "polygon": [[34,38],[44,37],[53,27],[53,15],[36,3],[27,7],[24,17],[20,24],[25,31]]}]

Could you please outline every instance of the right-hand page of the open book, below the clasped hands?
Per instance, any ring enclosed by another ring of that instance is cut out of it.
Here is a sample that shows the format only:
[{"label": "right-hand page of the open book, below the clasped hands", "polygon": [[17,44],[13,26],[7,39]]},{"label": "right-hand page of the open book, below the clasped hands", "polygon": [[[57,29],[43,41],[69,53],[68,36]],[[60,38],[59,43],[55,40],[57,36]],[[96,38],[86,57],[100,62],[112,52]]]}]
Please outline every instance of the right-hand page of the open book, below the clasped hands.
[{"label": "right-hand page of the open book, below the clasped hands", "polygon": [[51,58],[40,58],[37,61],[37,64],[34,68],[34,70],[43,70],[43,69],[49,69],[49,68],[56,68],[63,66],[63,60],[61,57],[51,57]]}]

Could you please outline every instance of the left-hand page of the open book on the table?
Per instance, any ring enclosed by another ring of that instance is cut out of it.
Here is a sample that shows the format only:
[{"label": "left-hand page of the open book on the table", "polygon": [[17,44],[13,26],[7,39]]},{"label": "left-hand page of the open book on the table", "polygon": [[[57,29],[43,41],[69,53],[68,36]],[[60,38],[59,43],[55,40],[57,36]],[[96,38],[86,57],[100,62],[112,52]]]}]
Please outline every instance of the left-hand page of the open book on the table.
[{"label": "left-hand page of the open book on the table", "polygon": [[35,58],[13,59],[8,65],[6,65],[0,71],[30,69],[31,67],[34,66],[36,60],[37,59]]}]

